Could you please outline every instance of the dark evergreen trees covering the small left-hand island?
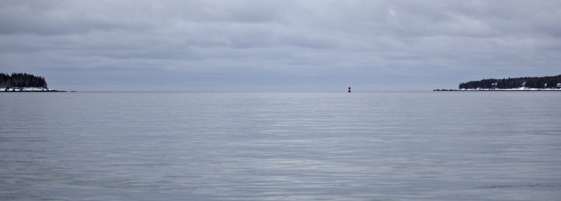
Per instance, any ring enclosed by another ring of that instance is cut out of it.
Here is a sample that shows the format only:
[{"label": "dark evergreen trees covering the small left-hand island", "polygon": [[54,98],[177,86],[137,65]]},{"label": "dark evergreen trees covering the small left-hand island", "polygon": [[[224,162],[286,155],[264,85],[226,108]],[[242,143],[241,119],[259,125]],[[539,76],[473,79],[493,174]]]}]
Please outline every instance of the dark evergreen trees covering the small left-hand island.
[{"label": "dark evergreen trees covering the small left-hand island", "polygon": [[47,88],[47,82],[32,74],[0,74],[0,88]]}]

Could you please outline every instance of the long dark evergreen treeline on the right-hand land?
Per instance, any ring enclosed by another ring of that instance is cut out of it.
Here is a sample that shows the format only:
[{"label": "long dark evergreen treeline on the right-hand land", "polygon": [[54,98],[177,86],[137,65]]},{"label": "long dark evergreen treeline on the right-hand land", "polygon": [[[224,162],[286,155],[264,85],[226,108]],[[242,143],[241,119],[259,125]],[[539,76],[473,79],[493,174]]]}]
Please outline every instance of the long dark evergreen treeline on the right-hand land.
[{"label": "long dark evergreen treeline on the right-hand land", "polygon": [[475,89],[475,88],[555,88],[557,83],[561,83],[561,75],[545,76],[545,77],[524,77],[524,78],[502,78],[502,79],[485,79],[480,81],[469,81],[460,83],[459,89]]}]

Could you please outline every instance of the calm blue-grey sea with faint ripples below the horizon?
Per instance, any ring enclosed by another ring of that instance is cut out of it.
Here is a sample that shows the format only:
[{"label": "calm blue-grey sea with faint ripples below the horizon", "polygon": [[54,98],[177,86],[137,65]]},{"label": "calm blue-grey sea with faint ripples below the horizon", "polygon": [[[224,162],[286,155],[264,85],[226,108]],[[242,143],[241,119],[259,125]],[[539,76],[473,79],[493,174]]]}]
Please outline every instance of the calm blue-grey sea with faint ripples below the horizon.
[{"label": "calm blue-grey sea with faint ripples below the horizon", "polygon": [[0,200],[560,200],[561,92],[0,94]]}]

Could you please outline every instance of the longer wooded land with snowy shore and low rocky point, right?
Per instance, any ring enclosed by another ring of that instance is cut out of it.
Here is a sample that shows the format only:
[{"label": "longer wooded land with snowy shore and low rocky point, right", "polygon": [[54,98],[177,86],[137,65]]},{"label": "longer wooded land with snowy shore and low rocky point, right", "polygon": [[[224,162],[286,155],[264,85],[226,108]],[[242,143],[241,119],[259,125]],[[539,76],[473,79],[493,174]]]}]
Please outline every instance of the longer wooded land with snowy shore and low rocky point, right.
[{"label": "longer wooded land with snowy shore and low rocky point, right", "polygon": [[460,83],[457,90],[434,91],[561,91],[561,75],[544,77],[484,79]]}]

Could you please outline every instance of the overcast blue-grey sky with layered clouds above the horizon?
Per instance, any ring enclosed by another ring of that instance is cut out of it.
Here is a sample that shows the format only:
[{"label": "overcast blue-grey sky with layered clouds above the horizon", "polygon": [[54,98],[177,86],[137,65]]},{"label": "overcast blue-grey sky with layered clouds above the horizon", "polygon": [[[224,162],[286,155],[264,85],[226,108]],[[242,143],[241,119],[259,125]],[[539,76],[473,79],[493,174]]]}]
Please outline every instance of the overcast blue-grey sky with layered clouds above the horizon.
[{"label": "overcast blue-grey sky with layered clouds above the horizon", "polygon": [[433,90],[561,74],[561,1],[0,1],[58,90]]}]

